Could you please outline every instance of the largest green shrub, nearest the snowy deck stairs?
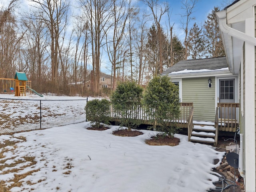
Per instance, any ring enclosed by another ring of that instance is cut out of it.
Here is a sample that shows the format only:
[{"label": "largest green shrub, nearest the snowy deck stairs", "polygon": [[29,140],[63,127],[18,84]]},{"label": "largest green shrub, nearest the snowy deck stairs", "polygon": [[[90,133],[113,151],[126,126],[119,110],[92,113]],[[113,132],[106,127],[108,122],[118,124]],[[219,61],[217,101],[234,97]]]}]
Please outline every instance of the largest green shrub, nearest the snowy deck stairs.
[{"label": "largest green shrub, nearest the snowy deck stairs", "polygon": [[167,76],[156,76],[145,90],[143,103],[148,116],[159,124],[156,129],[172,137],[177,128],[168,126],[168,123],[178,118],[180,114],[178,86],[173,84]]}]

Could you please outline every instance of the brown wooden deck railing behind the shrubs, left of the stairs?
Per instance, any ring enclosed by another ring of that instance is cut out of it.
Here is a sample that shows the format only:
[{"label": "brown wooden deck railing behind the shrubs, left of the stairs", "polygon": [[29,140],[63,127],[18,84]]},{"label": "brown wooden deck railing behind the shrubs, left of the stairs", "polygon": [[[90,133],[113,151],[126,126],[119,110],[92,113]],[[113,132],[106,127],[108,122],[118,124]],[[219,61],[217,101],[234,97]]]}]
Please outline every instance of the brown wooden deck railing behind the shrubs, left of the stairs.
[{"label": "brown wooden deck railing behind the shrubs, left of the stairs", "polygon": [[[180,103],[180,117],[176,118],[173,120],[173,122],[169,121],[170,123],[175,123],[176,126],[178,127],[182,127],[182,128],[186,128],[187,127],[187,120],[188,120],[188,116],[190,114],[190,110],[193,107],[193,103],[184,103],[181,102]],[[115,122],[120,122],[120,113],[118,113],[118,111],[116,111],[112,105],[110,105],[110,118],[112,119],[112,121]],[[136,106],[131,106],[129,109],[129,116],[128,118],[132,118],[132,119],[137,119],[137,120],[141,120],[142,124],[149,124],[149,125],[155,125],[156,122],[154,121],[153,116],[151,116],[151,114],[148,114],[146,112],[146,109],[144,108],[144,106],[140,106],[140,105],[136,105]]]}]

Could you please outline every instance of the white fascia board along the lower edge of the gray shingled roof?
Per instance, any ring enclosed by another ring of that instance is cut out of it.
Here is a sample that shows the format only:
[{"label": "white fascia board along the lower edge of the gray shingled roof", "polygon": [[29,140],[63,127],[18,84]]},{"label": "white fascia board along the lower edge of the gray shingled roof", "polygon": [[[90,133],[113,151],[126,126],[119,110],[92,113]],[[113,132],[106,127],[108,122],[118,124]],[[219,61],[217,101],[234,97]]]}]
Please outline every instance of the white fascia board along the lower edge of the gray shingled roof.
[{"label": "white fascia board along the lower edge of the gray shingled roof", "polygon": [[233,75],[229,70],[223,71],[209,71],[209,72],[195,72],[195,73],[179,73],[179,74],[166,74],[170,78],[197,78],[197,77],[209,77],[209,76],[230,76]]}]

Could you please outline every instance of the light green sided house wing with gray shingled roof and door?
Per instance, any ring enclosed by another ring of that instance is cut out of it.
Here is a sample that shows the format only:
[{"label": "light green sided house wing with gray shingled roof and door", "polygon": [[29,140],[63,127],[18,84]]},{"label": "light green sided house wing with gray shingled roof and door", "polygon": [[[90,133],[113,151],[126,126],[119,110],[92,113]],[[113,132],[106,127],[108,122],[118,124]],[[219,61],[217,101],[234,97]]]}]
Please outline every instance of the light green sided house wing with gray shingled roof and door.
[{"label": "light green sided house wing with gray shingled roof and door", "polygon": [[193,102],[194,120],[214,122],[218,103],[238,102],[238,75],[229,71],[226,57],[182,60],[161,75],[179,86],[181,102]]}]

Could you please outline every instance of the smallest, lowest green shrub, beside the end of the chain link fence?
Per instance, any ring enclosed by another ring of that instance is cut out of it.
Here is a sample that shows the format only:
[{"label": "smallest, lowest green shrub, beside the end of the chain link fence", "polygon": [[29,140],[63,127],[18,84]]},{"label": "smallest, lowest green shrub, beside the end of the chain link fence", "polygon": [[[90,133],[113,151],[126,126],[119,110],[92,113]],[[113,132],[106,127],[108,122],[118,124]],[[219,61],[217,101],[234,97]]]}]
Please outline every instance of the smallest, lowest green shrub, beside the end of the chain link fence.
[{"label": "smallest, lowest green shrub, beside the end of the chain link fence", "polygon": [[85,107],[86,118],[91,122],[92,127],[100,127],[100,123],[108,124],[110,117],[108,111],[110,108],[110,102],[106,99],[98,100],[94,99],[88,101]]}]

